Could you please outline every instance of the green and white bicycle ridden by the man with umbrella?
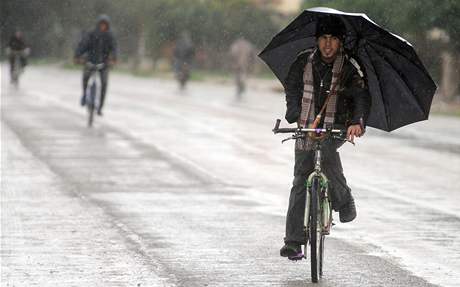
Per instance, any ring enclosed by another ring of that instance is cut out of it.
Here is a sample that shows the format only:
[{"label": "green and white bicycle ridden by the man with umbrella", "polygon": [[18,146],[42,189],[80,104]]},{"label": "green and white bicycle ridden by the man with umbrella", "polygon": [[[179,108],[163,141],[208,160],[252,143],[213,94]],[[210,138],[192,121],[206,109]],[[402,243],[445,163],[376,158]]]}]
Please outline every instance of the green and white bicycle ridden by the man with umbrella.
[{"label": "green and white bicycle ridden by the man with umbrella", "polygon": [[314,141],[315,168],[305,182],[307,193],[304,215],[305,244],[303,245],[302,256],[292,260],[306,259],[307,245],[310,244],[311,280],[313,283],[317,283],[318,279],[323,276],[325,236],[330,234],[332,227],[332,206],[328,196],[329,184],[326,175],[321,171],[321,145],[331,137],[348,141],[345,136],[346,131],[340,129],[279,128],[280,123],[281,120],[277,119],[273,129],[274,134],[293,133],[282,143],[305,138],[307,135]]}]

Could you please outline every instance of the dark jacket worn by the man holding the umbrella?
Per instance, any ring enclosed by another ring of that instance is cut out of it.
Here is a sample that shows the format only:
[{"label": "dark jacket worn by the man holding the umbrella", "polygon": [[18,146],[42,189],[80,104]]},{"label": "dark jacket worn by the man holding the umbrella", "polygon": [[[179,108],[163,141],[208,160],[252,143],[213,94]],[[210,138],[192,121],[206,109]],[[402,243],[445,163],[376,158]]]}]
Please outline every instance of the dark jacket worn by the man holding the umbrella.
[{"label": "dark jacket worn by the man holding the umbrella", "polygon": [[[311,52],[301,53],[297,57],[285,81],[286,120],[289,123],[296,122],[300,116],[304,86],[303,73]],[[319,54],[317,52],[313,57],[315,116],[327,98],[327,91],[330,89],[332,81],[332,64],[323,62]],[[358,69],[346,58],[340,78],[341,89],[338,91],[335,126],[349,126],[351,124],[365,126],[366,124],[370,109],[370,96],[365,79],[361,77]],[[321,80],[323,80],[322,88],[320,87]]]}]

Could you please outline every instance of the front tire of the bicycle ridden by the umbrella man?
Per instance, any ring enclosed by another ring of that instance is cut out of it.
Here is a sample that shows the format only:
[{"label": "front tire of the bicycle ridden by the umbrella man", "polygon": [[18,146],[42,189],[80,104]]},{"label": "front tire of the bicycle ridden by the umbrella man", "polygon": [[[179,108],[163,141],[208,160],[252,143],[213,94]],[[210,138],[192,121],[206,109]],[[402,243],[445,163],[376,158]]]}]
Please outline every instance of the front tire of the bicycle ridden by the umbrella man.
[{"label": "front tire of the bicycle ridden by the umbrella man", "polygon": [[310,228],[309,228],[309,240],[310,240],[310,267],[311,267],[311,281],[317,283],[321,274],[321,228],[318,225],[319,217],[319,179],[313,178],[312,186],[310,189],[311,201],[310,201]]}]

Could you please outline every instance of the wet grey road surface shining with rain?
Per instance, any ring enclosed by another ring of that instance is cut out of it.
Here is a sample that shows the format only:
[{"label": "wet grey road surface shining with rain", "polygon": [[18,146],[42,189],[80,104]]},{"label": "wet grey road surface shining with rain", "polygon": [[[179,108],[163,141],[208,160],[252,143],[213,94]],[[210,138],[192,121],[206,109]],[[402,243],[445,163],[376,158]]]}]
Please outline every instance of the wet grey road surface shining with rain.
[{"label": "wet grey road surface shining with rain", "polygon": [[[114,74],[87,129],[79,79],[2,79],[2,286],[313,285],[278,255],[293,162],[270,132],[279,94]],[[457,286],[459,135],[433,117],[343,148],[358,219],[327,239],[317,286]]]}]

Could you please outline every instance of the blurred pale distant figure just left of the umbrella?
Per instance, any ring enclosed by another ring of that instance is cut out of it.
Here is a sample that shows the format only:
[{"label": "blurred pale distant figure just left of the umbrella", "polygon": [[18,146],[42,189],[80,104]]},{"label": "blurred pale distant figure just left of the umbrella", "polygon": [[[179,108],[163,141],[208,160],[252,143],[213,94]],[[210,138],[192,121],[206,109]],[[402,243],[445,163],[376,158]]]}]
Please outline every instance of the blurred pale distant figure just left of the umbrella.
[{"label": "blurred pale distant figure just left of the umbrella", "polygon": [[235,75],[236,95],[241,99],[241,95],[246,90],[246,79],[254,66],[256,51],[249,41],[238,38],[230,46],[230,58]]}]

